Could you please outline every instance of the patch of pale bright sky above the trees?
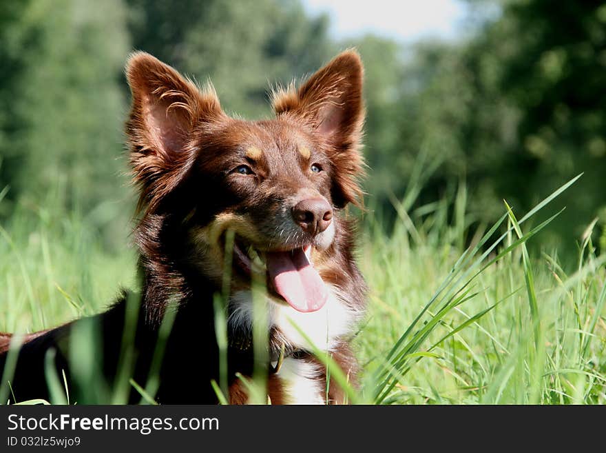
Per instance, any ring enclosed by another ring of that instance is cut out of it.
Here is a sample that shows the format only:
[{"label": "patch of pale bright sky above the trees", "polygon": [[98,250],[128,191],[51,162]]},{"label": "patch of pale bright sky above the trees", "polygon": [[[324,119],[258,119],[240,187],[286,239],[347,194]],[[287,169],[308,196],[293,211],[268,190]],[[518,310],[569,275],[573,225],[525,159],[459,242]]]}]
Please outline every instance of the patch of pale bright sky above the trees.
[{"label": "patch of pale bright sky above the trees", "polygon": [[398,41],[452,39],[468,10],[461,0],[303,0],[311,14],[331,15],[331,34],[340,39],[373,32]]}]

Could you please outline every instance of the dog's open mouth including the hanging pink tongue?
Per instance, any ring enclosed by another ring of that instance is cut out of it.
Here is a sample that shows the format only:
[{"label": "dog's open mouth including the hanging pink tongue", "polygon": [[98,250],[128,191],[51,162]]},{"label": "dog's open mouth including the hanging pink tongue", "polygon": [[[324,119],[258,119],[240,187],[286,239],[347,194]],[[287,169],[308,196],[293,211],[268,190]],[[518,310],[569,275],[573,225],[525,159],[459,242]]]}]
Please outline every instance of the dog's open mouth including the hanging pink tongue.
[{"label": "dog's open mouth including the hanging pink tongue", "polygon": [[233,265],[247,278],[267,272],[267,290],[299,312],[320,310],[328,289],[311,261],[312,245],[291,250],[258,250],[240,236],[233,244]]}]

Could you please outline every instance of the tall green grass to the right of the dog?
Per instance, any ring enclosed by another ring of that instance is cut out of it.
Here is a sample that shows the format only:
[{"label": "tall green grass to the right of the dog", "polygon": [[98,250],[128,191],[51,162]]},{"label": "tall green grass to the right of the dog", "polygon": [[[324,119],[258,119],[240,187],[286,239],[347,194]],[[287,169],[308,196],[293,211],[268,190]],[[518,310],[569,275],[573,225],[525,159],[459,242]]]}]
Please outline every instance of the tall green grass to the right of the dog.
[{"label": "tall green grass to the right of the dog", "polygon": [[479,230],[464,250],[448,204],[422,222],[401,212],[391,234],[368,225],[359,256],[371,296],[356,336],[366,401],[606,402],[606,257],[588,231],[572,274],[552,256],[532,258],[526,244],[541,241],[554,217],[528,224],[548,207],[519,221],[508,210],[496,241]]}]

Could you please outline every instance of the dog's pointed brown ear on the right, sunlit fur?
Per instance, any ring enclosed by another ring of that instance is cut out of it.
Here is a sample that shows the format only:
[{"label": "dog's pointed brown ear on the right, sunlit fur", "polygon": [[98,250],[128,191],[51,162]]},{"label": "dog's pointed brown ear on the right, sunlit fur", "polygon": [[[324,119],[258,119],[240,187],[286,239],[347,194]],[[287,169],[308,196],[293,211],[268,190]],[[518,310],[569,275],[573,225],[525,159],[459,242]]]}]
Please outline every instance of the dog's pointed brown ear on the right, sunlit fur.
[{"label": "dog's pointed brown ear on the right, sunlit fur", "polygon": [[313,128],[328,145],[335,165],[333,202],[359,204],[362,190],[357,178],[364,174],[359,152],[364,123],[362,78],[364,68],[355,50],[337,55],[307,79],[298,90],[273,92],[275,114],[287,115]]}]

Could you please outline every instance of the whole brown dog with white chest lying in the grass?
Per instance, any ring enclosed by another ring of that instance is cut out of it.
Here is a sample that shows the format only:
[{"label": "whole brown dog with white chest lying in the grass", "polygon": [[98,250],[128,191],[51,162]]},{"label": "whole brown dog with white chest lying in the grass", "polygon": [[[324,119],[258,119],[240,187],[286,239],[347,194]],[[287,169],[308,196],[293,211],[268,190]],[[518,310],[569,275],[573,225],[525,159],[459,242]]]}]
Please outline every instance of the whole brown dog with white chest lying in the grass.
[{"label": "whole brown dog with white chest lying in the grass", "polygon": [[[246,376],[259,366],[267,370],[273,404],[346,402],[312,352],[328,352],[356,385],[349,342],[364,314],[366,284],[346,206],[362,203],[363,72],[359,54],[346,50],[298,88],[275,88],[275,118],[244,121],[224,113],[210,83],[199,88],[155,57],[132,54],[125,69],[132,92],[126,135],[139,194],[140,298],[123,293],[96,316],[19,338],[1,334],[0,370],[9,349],[21,343],[13,398],[48,398],[50,357],[58,376],[65,373],[72,401],[75,395],[79,403],[98,402],[82,379],[73,379],[77,367],[70,358],[77,354],[70,338],[84,323],[98,332],[93,361],[109,387],[124,379],[128,335],[129,376],[145,383],[163,320],[172,314],[154,399],[217,403],[211,382],[221,379],[222,348],[215,301],[227,294],[229,403],[249,401]],[[255,281],[266,288],[258,305]],[[267,363],[255,359],[253,306],[267,318],[269,340],[261,348]],[[134,388],[128,401],[140,401]]]}]

